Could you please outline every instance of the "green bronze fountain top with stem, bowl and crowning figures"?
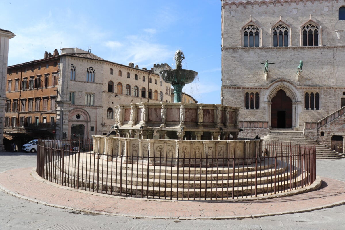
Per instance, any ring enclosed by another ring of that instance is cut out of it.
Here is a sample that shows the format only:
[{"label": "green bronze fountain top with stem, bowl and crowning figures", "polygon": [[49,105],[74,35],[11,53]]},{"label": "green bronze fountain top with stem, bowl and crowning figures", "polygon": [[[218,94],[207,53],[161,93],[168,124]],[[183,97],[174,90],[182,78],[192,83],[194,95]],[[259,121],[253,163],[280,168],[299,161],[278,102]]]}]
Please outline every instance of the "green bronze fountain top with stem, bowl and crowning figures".
[{"label": "green bronze fountain top with stem, bowl and crowning figures", "polygon": [[176,69],[160,71],[160,76],[165,82],[168,82],[174,87],[174,102],[181,102],[182,88],[185,84],[194,81],[198,75],[193,70],[182,69],[182,60],[185,56],[181,50],[175,52]]}]

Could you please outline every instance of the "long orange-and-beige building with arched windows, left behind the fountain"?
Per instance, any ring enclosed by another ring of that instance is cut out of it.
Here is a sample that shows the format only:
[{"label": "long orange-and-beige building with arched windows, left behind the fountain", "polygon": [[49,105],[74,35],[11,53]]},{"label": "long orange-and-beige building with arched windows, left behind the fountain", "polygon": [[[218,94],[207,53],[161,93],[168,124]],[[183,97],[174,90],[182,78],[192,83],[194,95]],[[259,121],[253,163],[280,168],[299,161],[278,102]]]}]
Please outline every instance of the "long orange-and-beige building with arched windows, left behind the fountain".
[{"label": "long orange-and-beige building with arched windows, left behind the fountain", "polygon": [[78,48],[9,66],[6,85],[8,138],[91,139],[108,133],[118,103],[171,100],[159,74]]}]

